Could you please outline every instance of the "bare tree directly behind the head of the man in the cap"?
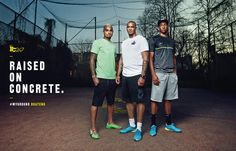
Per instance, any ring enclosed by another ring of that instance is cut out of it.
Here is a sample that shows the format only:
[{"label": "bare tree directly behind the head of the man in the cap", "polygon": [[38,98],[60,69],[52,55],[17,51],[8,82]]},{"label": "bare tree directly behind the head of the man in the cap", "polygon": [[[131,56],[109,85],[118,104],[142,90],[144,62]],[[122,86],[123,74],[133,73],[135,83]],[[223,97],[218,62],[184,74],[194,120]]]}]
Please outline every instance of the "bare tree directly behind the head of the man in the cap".
[{"label": "bare tree directly behind the head of the man in the cap", "polygon": [[[183,0],[146,0],[147,8],[143,16],[139,17],[140,31],[149,38],[157,34],[157,21],[168,19],[170,24],[170,36],[175,38],[177,22],[184,18],[180,16],[180,4]],[[158,14],[158,15],[157,15]]]}]

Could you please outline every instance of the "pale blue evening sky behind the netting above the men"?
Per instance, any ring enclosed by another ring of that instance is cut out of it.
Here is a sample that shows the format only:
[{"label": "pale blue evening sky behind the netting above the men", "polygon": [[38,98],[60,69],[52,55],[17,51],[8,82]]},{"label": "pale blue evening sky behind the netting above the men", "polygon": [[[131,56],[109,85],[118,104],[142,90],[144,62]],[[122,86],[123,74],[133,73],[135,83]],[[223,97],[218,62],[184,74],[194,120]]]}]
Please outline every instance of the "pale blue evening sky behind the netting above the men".
[{"label": "pale blue evening sky behind the netting above the men", "polygon": [[[0,0],[2,3],[6,4],[16,12],[19,12],[20,3],[21,7],[24,8],[32,0]],[[112,41],[118,41],[118,20],[121,22],[121,41],[127,38],[126,23],[129,20],[134,20],[138,22],[138,17],[142,16],[145,9],[145,0],[51,0],[56,2],[68,2],[68,3],[108,3],[104,5],[93,5],[93,6],[79,6],[79,5],[61,5],[49,3],[46,1],[38,0],[37,9],[37,25],[44,28],[45,18],[55,17],[49,13],[51,11],[56,17],[67,22],[70,25],[77,27],[84,27],[88,24],[94,17],[97,20],[97,26],[102,27],[104,24],[112,24],[114,27],[114,34]],[[130,3],[127,3],[130,2]],[[45,8],[47,7],[47,10]],[[35,3],[33,3],[28,9],[26,18],[34,21],[34,8]],[[182,5],[182,9],[188,8],[186,10],[186,15],[190,14],[189,10],[192,8],[192,0],[185,0]],[[88,26],[94,26],[94,20],[91,21]],[[94,40],[95,30],[85,29],[82,30],[75,38],[73,38],[81,28],[67,28],[67,41],[69,44],[77,43],[79,40],[89,39]],[[138,31],[138,33],[140,33]],[[65,39],[65,25],[56,20],[56,28],[54,31],[55,37],[64,41]],[[102,38],[102,28],[97,28],[97,39]],[[73,39],[72,39],[73,38]]]}]

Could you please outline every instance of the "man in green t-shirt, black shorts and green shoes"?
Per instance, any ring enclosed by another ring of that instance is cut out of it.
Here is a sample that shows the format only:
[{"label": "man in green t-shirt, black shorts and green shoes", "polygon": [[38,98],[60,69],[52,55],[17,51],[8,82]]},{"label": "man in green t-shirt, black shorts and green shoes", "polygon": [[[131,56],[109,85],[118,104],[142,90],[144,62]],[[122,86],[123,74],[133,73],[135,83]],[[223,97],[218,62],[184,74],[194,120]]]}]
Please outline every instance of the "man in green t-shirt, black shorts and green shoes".
[{"label": "man in green t-shirt, black shorts and green shoes", "polygon": [[107,100],[108,121],[106,128],[120,129],[119,125],[113,123],[112,115],[114,109],[115,91],[116,91],[116,46],[111,42],[113,28],[107,24],[103,27],[104,38],[95,40],[92,45],[90,56],[90,70],[94,83],[94,94],[91,112],[90,136],[93,139],[99,139],[100,136],[96,130],[96,117],[98,107],[102,105],[104,98]]}]

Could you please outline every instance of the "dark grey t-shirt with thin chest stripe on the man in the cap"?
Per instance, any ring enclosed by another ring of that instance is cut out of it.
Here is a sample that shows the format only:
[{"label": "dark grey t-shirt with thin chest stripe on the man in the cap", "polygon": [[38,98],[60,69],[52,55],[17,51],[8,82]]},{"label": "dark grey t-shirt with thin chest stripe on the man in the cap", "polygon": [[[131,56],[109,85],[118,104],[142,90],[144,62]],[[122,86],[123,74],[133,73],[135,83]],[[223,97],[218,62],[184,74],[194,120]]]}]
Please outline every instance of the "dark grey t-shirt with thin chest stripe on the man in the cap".
[{"label": "dark grey t-shirt with thin chest stripe on the man in the cap", "polygon": [[149,50],[154,52],[154,68],[161,72],[173,72],[175,41],[170,37],[154,36],[149,40]]}]

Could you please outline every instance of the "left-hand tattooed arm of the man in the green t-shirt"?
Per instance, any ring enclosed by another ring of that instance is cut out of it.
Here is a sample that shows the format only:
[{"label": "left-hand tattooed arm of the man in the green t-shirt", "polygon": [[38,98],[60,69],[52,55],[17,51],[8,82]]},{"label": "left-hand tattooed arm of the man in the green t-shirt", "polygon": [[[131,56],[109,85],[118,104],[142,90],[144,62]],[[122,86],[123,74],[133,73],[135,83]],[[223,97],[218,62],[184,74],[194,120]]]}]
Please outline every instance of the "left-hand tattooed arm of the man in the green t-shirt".
[{"label": "left-hand tattooed arm of the man in the green t-shirt", "polygon": [[95,86],[97,86],[99,83],[99,80],[96,76],[96,70],[95,70],[96,69],[96,61],[97,61],[97,54],[91,52],[89,66],[90,66],[90,71],[91,71],[92,78],[93,78],[93,83]]}]

